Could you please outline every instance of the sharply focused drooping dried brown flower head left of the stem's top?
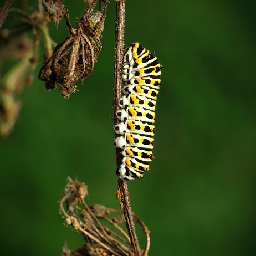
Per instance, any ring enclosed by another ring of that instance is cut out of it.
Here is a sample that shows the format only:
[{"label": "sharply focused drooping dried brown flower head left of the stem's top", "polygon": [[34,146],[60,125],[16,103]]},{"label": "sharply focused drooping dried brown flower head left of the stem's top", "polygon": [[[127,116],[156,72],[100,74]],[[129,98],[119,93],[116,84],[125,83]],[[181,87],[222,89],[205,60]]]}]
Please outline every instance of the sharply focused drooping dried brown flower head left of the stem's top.
[{"label": "sharply focused drooping dried brown flower head left of the stem's top", "polygon": [[[57,88],[60,84],[62,96],[68,99],[76,86],[76,81],[83,81],[88,77],[94,68],[101,50],[101,32],[104,30],[104,20],[106,17],[106,6],[108,1],[100,0],[99,11],[93,12],[97,0],[94,0],[86,8],[80,21],[76,18],[75,29],[69,22],[69,13],[63,9],[66,25],[70,36],[64,42],[57,45],[53,55],[44,63],[39,72],[39,79],[45,81],[47,90]],[[70,52],[72,48],[72,52]],[[50,70],[43,70],[48,63],[52,62]]]}]

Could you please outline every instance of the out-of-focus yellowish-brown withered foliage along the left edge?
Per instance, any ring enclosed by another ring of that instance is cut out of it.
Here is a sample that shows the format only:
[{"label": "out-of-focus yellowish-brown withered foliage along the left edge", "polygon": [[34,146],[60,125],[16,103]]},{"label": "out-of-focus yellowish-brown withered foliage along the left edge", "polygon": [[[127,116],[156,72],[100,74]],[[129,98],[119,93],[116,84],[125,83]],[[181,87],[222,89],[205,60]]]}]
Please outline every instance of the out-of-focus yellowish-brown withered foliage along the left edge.
[{"label": "out-of-focus yellowish-brown withered foliage along the left edge", "polygon": [[[40,4],[30,15],[22,9],[11,8],[8,18],[17,23],[12,27],[0,29],[0,42],[3,42],[0,50],[0,68],[10,59],[16,63],[0,80],[0,135],[3,137],[13,130],[21,109],[22,104],[17,101],[17,94],[33,83],[40,39],[45,42],[45,57],[52,55],[52,42],[47,28],[49,17],[42,12]],[[33,39],[25,34],[29,31],[33,31]]]}]

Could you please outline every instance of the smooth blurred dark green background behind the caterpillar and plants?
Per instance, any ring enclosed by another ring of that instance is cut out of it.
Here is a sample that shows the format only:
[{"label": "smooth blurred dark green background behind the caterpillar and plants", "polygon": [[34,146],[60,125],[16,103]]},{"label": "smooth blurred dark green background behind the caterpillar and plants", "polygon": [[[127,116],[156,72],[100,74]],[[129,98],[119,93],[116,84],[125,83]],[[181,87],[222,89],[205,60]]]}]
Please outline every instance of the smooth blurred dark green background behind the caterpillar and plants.
[{"label": "smooth blurred dark green background behind the caterpillar and plants", "polygon": [[[74,27],[86,6],[64,4]],[[0,139],[2,255],[60,255],[65,241],[70,250],[84,244],[59,214],[68,176],[88,185],[88,204],[119,207],[115,10],[110,0],[103,49],[79,92],[65,100],[35,79],[18,96],[15,129]],[[156,159],[144,180],[128,183],[132,211],[151,231],[149,255],[256,255],[254,18],[255,1],[126,3],[125,45],[143,43],[164,66]],[[68,37],[65,22],[50,35]]]}]

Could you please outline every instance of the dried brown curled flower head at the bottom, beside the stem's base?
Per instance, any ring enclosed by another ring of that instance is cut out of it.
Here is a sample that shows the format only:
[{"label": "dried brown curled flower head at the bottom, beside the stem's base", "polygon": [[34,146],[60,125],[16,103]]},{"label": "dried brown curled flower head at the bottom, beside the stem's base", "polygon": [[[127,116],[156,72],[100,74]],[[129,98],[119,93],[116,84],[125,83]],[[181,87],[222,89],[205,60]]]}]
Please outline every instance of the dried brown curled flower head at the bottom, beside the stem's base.
[{"label": "dried brown curled flower head at the bottom, beside the stem's base", "polygon": [[[130,237],[118,225],[125,221],[122,211],[99,204],[88,206],[84,201],[84,198],[88,196],[88,187],[85,183],[73,181],[70,177],[68,180],[68,185],[66,185],[62,198],[59,201],[59,207],[65,218],[65,223],[78,230],[86,242],[86,244],[75,249],[71,254],[76,256],[132,255]],[[66,207],[63,204],[66,204]],[[110,219],[107,217],[110,213],[115,213],[118,216]],[[135,214],[132,214],[132,216],[134,221],[142,227],[146,235],[147,243],[141,255],[147,255],[150,242],[149,230],[140,218]],[[106,227],[100,220],[110,223],[116,231]],[[69,255],[67,247],[64,248],[64,254],[62,255]]]}]

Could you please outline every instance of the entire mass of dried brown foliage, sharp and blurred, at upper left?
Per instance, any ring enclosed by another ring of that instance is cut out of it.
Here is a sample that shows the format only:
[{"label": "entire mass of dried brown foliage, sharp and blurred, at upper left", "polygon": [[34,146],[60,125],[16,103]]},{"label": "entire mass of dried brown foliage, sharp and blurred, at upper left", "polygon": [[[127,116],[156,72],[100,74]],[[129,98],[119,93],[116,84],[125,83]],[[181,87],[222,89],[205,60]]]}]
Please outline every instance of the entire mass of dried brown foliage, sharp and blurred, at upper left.
[{"label": "entire mass of dried brown foliage, sharp and blurred, at upper left", "polygon": [[[0,9],[0,27],[7,14],[8,19],[17,21],[12,27],[7,25],[0,29],[0,42],[4,43],[0,50],[0,68],[8,59],[17,60],[0,80],[0,136],[8,136],[13,130],[22,105],[16,100],[16,96],[25,86],[33,83],[34,70],[40,55],[44,58],[40,79],[46,82],[48,90],[55,89],[55,83],[60,83],[64,98],[69,98],[74,91],[75,81],[83,81],[93,71],[101,50],[100,34],[104,29],[108,1],[99,0],[99,11],[95,12],[93,9],[97,0],[86,2],[91,3],[80,21],[76,19],[75,29],[69,23],[68,10],[63,6],[63,0],[38,0],[32,14],[23,9],[11,8],[13,0],[6,0]],[[56,44],[50,38],[47,24],[52,21],[58,26],[63,15],[70,36],[57,45],[53,53],[52,46],[55,47]],[[33,39],[30,39],[27,32],[33,32]],[[24,42],[29,42],[29,47]],[[44,53],[40,52],[40,42],[44,44]]]}]

